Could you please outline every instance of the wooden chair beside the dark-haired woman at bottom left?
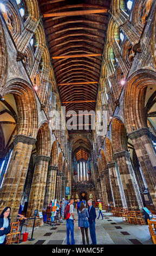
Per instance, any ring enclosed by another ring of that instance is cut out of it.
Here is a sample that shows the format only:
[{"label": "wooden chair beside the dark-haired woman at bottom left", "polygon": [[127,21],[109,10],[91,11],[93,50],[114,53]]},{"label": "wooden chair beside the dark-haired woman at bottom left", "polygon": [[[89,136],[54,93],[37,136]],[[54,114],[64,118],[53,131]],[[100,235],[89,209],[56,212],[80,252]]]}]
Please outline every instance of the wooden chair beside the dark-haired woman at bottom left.
[{"label": "wooden chair beside the dark-haired woman at bottom left", "polygon": [[10,233],[6,235],[6,245],[11,245],[11,243],[19,243],[21,232],[18,231],[19,221],[10,223],[11,229]]}]

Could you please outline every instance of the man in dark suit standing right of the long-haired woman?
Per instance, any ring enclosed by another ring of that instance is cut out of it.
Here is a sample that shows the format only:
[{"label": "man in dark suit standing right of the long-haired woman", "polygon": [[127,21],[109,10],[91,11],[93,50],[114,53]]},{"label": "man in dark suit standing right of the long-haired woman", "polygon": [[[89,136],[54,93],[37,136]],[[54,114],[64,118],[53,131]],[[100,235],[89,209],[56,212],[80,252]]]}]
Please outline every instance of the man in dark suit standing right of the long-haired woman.
[{"label": "man in dark suit standing right of the long-haired woman", "polygon": [[96,211],[95,207],[92,205],[92,201],[88,200],[88,214],[89,214],[89,230],[90,230],[90,237],[92,239],[92,245],[96,245],[96,233],[95,233],[95,218],[96,218]]}]

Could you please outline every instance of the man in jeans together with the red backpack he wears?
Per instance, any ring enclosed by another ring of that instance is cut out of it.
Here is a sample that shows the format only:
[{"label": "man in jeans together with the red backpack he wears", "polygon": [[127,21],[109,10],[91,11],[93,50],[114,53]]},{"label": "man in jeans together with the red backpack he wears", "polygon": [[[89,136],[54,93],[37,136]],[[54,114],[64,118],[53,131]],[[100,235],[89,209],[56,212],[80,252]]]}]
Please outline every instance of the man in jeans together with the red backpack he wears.
[{"label": "man in jeans together with the red backpack he wears", "polygon": [[70,203],[67,204],[66,208],[64,209],[64,218],[66,218],[66,227],[67,227],[67,245],[70,245],[69,235],[71,235],[71,245],[75,245],[74,240],[74,199],[70,199]]}]

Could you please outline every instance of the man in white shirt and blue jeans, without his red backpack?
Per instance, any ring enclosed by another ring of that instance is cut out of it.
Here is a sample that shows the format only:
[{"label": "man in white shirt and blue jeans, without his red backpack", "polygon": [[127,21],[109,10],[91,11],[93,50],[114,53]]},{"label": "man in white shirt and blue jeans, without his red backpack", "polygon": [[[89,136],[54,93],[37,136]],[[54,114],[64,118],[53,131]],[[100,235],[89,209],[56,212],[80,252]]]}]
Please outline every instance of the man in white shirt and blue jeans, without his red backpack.
[{"label": "man in white shirt and blue jeans, without his red backpack", "polygon": [[70,245],[69,241],[69,235],[71,236],[71,245],[75,245],[75,240],[74,240],[74,224],[75,224],[75,218],[74,218],[74,199],[70,199],[70,217],[66,220],[66,225],[67,225],[67,245]]}]

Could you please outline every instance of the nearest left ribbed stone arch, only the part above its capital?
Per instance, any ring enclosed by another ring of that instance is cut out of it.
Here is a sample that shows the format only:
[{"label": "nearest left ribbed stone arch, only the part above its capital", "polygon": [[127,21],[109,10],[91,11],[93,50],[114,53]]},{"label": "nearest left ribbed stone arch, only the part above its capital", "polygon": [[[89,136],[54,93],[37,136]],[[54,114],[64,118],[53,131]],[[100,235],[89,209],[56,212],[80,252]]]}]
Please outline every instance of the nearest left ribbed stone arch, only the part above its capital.
[{"label": "nearest left ribbed stone arch, only the part above its capital", "polygon": [[13,94],[17,104],[17,134],[36,137],[38,114],[32,86],[20,78],[12,79],[1,90],[2,96],[6,94]]}]

